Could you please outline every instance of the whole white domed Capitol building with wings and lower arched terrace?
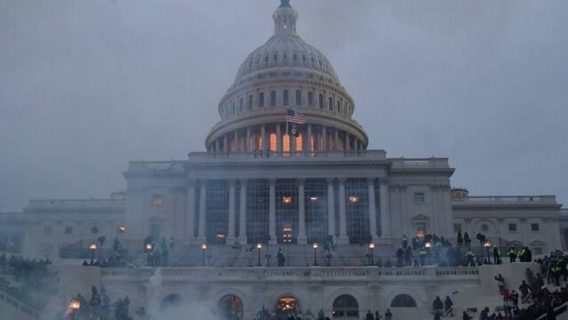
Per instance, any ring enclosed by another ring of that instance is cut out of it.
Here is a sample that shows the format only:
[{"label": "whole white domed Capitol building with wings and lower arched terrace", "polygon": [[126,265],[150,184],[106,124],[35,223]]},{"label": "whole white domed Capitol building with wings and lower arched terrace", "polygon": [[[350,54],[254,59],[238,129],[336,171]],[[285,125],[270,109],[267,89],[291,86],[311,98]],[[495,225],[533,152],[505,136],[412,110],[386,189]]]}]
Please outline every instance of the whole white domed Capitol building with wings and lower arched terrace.
[{"label": "whole white domed Capitol building with wings and lower arched terrace", "polygon": [[[396,259],[403,235],[453,242],[461,231],[476,242],[482,233],[534,255],[567,248],[568,211],[554,195],[470,195],[452,187],[448,158],[368,149],[373,137],[353,118],[355,99],[326,56],[299,36],[298,12],[282,1],[272,17],[273,36],[244,58],[203,151],[130,162],[125,191],[109,199],[30,200],[23,212],[0,213],[2,250],[48,257],[63,273],[88,259],[98,237],[107,238],[107,250],[118,237],[138,266],[76,273],[111,295],[129,295],[134,310],[231,297],[244,319],[284,305],[337,319],[392,308],[395,319],[410,319],[401,314],[423,314],[436,296],[459,292],[455,300],[465,303],[494,294],[493,274],[368,266],[369,243],[383,262]],[[171,267],[143,266],[149,236],[175,242]],[[333,257],[323,248],[329,239]],[[279,248],[285,266],[276,264]],[[156,275],[161,286],[149,288]]]}]

